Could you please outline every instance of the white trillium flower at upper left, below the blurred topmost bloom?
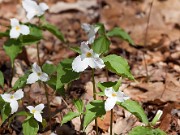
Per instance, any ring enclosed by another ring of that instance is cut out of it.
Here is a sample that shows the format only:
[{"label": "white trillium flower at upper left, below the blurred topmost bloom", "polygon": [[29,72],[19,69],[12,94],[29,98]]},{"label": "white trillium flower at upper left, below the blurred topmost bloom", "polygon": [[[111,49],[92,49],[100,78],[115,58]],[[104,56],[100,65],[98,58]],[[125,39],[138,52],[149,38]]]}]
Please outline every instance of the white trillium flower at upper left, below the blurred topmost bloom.
[{"label": "white trillium flower at upper left, below the blurred topmost bloom", "polygon": [[19,21],[16,18],[10,19],[10,21],[10,38],[18,38],[20,34],[28,35],[30,33],[29,27],[19,24]]}]

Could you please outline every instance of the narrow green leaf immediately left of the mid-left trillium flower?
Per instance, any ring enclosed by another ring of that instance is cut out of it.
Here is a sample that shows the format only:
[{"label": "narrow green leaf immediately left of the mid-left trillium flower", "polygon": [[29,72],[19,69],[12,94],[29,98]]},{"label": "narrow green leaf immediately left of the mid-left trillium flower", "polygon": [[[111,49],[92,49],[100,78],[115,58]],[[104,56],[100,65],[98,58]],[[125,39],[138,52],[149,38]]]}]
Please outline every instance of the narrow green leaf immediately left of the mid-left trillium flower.
[{"label": "narrow green leaf immediately left of the mid-left trillium flower", "polygon": [[30,73],[27,72],[23,76],[19,77],[19,79],[15,82],[12,89],[17,90],[17,89],[23,88],[26,85],[26,81],[27,81],[27,78],[28,78],[29,74]]}]

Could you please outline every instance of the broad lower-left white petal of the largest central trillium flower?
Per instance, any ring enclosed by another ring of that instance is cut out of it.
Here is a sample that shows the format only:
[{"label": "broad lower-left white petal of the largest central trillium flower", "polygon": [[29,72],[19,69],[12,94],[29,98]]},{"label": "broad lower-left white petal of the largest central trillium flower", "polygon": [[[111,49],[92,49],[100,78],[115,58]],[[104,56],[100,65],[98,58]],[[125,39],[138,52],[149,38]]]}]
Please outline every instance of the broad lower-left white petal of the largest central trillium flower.
[{"label": "broad lower-left white petal of the largest central trillium flower", "polygon": [[75,72],[82,72],[88,67],[88,61],[85,58],[84,60],[81,60],[81,56],[77,56],[73,62],[72,62],[72,69]]}]

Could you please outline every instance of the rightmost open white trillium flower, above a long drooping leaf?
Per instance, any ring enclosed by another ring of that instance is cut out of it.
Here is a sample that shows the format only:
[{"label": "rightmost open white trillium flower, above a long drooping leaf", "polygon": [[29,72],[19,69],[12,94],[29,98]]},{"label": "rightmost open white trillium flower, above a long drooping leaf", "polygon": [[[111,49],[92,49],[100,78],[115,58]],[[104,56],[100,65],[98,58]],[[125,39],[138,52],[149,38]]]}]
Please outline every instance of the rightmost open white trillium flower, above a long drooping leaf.
[{"label": "rightmost open white trillium flower, above a long drooping leaf", "polygon": [[110,111],[116,102],[124,102],[129,99],[122,91],[114,91],[112,87],[105,89],[105,95],[108,97],[105,102],[105,110]]}]

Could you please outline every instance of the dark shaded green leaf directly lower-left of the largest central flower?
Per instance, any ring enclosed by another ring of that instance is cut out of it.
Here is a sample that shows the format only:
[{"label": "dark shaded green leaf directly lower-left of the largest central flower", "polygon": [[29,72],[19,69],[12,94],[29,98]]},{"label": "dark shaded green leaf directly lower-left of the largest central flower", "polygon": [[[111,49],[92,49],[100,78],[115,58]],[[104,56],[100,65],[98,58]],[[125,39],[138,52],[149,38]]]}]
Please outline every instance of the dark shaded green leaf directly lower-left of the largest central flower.
[{"label": "dark shaded green leaf directly lower-left of the largest central flower", "polygon": [[65,59],[57,66],[56,90],[61,94],[64,93],[62,90],[64,90],[63,88],[65,84],[79,78],[80,74],[72,70],[72,61],[72,59]]}]

